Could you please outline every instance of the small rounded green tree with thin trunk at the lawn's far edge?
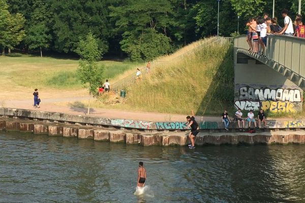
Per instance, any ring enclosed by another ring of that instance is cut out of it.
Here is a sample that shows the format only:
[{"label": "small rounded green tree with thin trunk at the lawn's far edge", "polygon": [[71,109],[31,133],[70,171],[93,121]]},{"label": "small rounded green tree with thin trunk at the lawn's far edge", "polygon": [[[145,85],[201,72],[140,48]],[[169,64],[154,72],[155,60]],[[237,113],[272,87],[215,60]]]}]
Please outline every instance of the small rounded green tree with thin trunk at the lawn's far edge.
[{"label": "small rounded green tree with thin trunk at the lawn's far edge", "polygon": [[51,39],[46,25],[39,23],[28,28],[24,41],[28,44],[29,49],[40,48],[40,56],[42,57],[42,48],[48,48]]}]

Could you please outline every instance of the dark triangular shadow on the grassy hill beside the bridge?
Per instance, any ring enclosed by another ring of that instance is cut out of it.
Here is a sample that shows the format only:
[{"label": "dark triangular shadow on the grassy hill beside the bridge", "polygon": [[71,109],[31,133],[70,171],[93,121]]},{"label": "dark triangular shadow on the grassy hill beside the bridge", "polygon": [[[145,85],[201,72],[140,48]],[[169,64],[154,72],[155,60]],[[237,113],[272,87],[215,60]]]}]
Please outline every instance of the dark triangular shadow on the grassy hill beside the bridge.
[{"label": "dark triangular shadow on the grassy hill beside the bridge", "polygon": [[196,115],[221,115],[224,109],[234,109],[233,46],[228,49],[215,72]]}]

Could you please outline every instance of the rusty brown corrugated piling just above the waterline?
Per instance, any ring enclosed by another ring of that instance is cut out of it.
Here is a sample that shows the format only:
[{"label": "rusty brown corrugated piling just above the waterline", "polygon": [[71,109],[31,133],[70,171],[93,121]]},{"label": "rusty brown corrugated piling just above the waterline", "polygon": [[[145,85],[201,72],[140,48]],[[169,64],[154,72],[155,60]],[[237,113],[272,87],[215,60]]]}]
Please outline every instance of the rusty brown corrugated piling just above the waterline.
[{"label": "rusty brown corrugated piling just above the waterline", "polygon": [[[189,132],[143,132],[138,130],[118,130],[99,126],[45,123],[11,118],[0,118],[0,130],[139,146],[186,146],[189,143]],[[224,144],[305,144],[305,130],[279,130],[256,133],[199,132],[198,136],[196,136],[196,146]]]}]

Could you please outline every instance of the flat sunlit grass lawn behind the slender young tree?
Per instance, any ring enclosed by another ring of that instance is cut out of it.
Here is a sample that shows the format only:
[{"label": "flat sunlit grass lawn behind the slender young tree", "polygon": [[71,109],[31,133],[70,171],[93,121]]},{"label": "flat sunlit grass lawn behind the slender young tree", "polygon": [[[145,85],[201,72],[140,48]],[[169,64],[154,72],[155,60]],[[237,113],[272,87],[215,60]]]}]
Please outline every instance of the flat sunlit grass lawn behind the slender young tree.
[{"label": "flat sunlit grass lawn behind the slender young tree", "polygon": [[[26,88],[45,87],[53,89],[80,89],[82,85],[77,79],[77,59],[39,57],[13,54],[0,56],[0,82],[6,87],[23,86]],[[113,79],[135,67],[136,63],[102,60],[104,80]],[[2,87],[3,88],[3,87]],[[1,89],[1,87],[0,87]]]}]

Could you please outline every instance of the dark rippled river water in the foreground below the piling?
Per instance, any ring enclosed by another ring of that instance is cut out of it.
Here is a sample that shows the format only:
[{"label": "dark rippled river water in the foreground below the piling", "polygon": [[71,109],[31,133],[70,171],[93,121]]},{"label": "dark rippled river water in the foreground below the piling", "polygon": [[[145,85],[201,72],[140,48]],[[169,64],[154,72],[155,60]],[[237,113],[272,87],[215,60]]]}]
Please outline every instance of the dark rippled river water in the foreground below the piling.
[{"label": "dark rippled river water in the foreground below the piling", "polygon": [[305,145],[189,150],[0,133],[0,202],[305,202]]}]

